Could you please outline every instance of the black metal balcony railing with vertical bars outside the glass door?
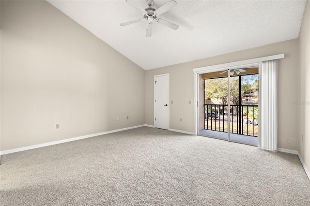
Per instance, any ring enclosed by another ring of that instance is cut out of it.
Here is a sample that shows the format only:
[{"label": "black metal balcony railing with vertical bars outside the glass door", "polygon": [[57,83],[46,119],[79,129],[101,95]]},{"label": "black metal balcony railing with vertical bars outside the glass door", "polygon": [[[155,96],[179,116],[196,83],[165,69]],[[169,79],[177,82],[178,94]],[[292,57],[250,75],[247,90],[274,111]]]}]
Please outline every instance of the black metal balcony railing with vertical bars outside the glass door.
[{"label": "black metal balcony railing with vertical bars outside the glass door", "polygon": [[[258,105],[230,105],[230,132],[258,137]],[[228,132],[228,105],[204,104],[204,129]]]}]

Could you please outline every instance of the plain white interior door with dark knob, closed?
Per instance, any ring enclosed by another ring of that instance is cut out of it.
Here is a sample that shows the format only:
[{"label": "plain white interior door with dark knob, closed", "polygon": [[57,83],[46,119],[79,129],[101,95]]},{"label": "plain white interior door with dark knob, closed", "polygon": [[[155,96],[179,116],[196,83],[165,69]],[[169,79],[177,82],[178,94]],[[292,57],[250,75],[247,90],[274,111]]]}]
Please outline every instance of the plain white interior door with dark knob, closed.
[{"label": "plain white interior door with dark knob, closed", "polygon": [[155,75],[155,121],[156,128],[168,130],[169,124],[169,74]]}]

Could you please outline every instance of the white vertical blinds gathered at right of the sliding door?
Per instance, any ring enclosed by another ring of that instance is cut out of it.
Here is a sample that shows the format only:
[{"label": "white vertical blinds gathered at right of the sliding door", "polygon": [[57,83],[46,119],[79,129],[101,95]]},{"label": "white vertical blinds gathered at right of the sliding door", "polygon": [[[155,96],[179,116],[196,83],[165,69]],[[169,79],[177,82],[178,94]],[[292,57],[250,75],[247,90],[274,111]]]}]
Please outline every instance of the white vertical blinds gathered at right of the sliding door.
[{"label": "white vertical blinds gathered at right of the sliding door", "polygon": [[278,147],[277,71],[277,59],[260,63],[258,147],[273,151]]}]

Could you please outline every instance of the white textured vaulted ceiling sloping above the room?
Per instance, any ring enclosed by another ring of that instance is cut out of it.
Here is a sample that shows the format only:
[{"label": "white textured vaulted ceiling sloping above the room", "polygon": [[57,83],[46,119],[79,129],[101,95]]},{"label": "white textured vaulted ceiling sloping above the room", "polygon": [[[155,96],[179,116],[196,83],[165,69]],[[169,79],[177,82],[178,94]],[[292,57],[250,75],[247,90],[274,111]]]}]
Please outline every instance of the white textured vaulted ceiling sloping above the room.
[{"label": "white textured vaulted ceiling sloping above the room", "polygon": [[[145,70],[298,38],[306,0],[176,0],[160,18],[179,29],[146,21],[125,0],[47,0]],[[169,0],[154,0],[154,8]],[[137,0],[147,8],[146,0]]]}]

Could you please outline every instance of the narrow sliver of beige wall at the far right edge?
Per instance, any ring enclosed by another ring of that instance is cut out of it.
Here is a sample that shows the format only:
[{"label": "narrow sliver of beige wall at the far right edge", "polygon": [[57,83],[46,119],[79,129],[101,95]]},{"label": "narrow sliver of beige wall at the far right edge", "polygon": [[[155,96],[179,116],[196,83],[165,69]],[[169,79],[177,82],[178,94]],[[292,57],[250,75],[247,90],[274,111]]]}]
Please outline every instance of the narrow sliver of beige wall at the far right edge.
[{"label": "narrow sliver of beige wall at the far right edge", "polygon": [[[299,148],[298,152],[310,170],[310,1],[306,10],[299,35],[300,73],[299,73]],[[304,141],[301,139],[304,135]]]}]

